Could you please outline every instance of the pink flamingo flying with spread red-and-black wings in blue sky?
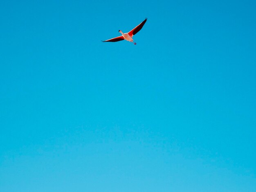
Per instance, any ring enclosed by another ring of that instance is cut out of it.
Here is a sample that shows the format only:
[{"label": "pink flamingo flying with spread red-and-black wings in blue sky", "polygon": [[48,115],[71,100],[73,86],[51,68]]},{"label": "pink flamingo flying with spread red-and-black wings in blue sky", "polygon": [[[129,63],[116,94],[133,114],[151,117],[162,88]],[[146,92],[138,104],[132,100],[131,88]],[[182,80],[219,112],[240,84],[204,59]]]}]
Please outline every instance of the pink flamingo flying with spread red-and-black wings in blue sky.
[{"label": "pink flamingo flying with spread red-and-black wings in blue sky", "polygon": [[[146,18],[144,21],[142,21],[139,25],[137,25],[134,29],[132,29],[131,31],[129,31],[128,33],[123,33],[121,30],[119,30],[119,33],[121,33],[122,35],[119,37],[115,37],[106,41],[102,41],[102,42],[117,42],[117,41],[122,41],[122,40],[127,40],[130,42],[133,42],[132,36],[134,36],[136,33],[138,33],[143,25],[145,24],[145,22],[147,21],[148,18]],[[136,42],[133,42],[134,45],[136,45]]]}]

